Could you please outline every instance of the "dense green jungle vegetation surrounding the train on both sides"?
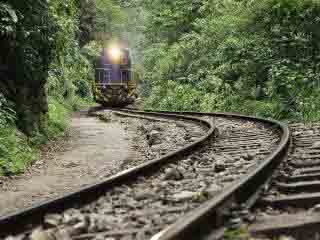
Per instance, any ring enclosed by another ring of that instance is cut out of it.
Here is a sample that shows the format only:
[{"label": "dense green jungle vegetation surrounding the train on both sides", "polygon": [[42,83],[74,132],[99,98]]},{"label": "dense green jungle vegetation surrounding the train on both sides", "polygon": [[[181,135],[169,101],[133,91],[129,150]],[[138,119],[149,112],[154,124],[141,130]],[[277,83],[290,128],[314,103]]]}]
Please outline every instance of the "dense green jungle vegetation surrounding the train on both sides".
[{"label": "dense green jungle vegetation surrounding the train on both sides", "polygon": [[0,2],[0,175],[92,103],[93,59],[126,41],[145,108],[320,118],[318,0]]}]

